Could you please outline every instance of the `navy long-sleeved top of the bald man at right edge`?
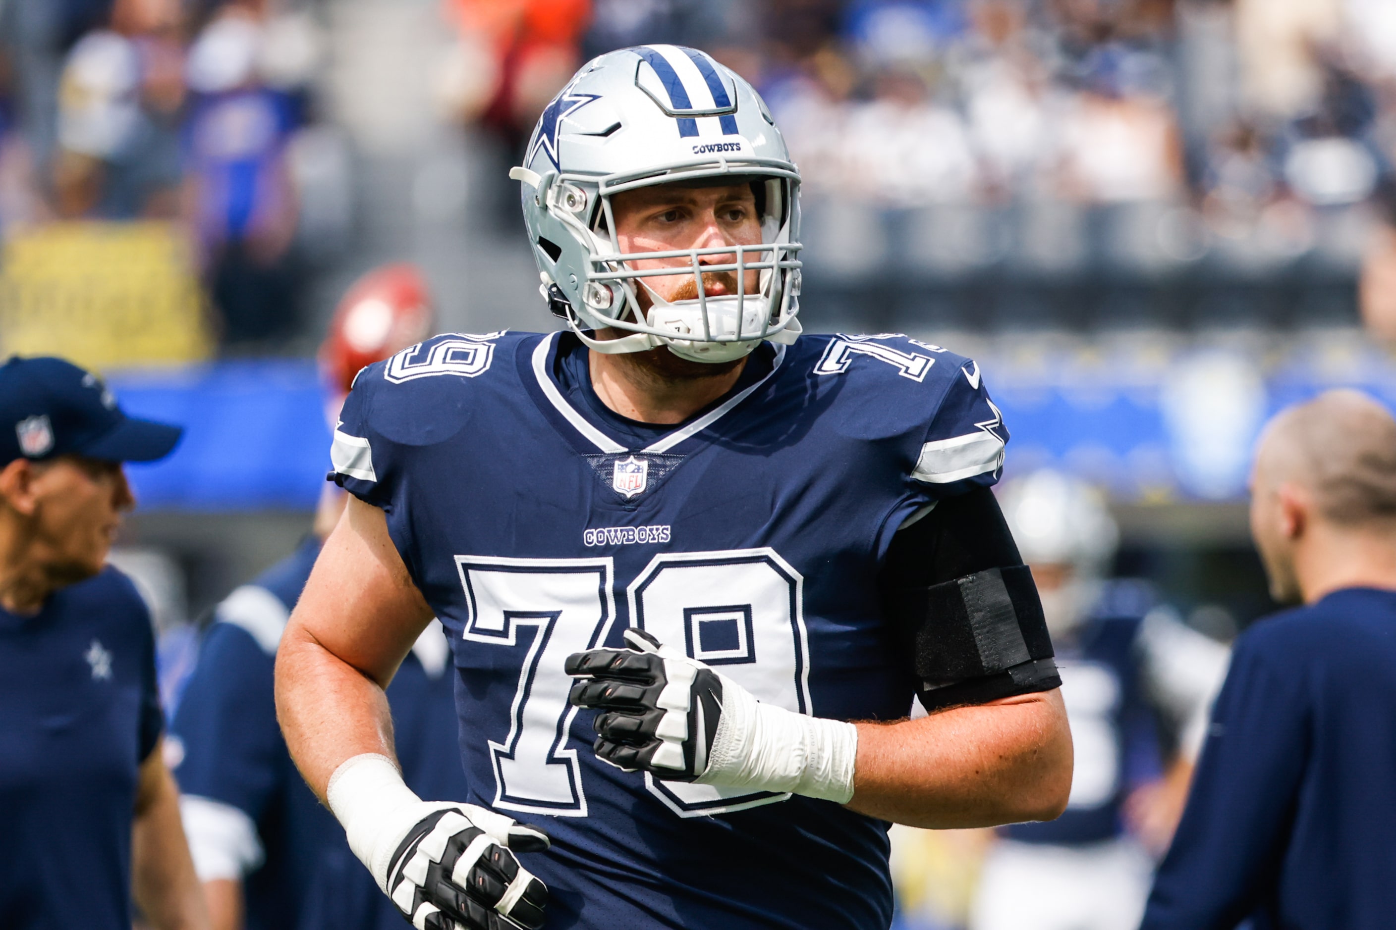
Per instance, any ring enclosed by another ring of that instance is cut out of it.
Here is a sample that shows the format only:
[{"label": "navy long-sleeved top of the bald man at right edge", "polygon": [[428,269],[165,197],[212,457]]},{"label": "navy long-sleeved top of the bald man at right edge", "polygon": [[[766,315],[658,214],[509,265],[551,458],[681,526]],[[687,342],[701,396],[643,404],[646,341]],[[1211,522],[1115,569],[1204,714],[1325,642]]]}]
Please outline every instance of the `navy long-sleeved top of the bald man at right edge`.
[{"label": "navy long-sleeved top of the bald man at right edge", "polygon": [[1396,593],[1237,641],[1148,930],[1375,930],[1396,913]]}]

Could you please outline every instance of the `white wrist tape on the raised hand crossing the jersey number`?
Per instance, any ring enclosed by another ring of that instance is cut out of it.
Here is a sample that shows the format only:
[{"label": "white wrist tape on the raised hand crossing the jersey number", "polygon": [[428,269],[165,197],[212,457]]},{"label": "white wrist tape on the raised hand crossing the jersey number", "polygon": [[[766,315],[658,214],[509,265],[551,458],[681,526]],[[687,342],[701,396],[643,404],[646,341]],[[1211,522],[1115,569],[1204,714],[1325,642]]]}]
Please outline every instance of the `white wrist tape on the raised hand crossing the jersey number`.
[{"label": "white wrist tape on the raised hand crossing the jersey number", "polygon": [[762,704],[722,679],[722,719],[708,768],[694,781],[725,788],[792,792],[846,805],[853,798],[859,729]]}]

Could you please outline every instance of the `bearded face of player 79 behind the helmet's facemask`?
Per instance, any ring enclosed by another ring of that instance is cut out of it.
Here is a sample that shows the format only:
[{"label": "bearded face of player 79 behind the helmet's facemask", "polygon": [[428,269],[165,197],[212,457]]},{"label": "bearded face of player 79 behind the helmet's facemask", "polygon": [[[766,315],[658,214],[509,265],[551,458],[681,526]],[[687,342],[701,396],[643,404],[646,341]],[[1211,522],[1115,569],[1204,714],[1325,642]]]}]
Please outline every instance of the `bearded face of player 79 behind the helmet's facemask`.
[{"label": "bearded face of player 79 behind the helmet's facemask", "polygon": [[[659,184],[623,191],[611,198],[616,218],[616,240],[623,252],[662,252],[680,248],[718,248],[722,245],[755,245],[761,243],[761,218],[757,215],[757,198],[750,184],[729,184],[723,187],[680,187]],[[748,258],[765,261],[766,254]],[[729,265],[737,261],[736,252],[704,255],[699,265]],[[652,268],[691,268],[687,258],[637,259],[630,262],[635,270]],[[748,270],[744,275],[744,293],[754,294],[759,287],[759,273]],[[656,294],[669,301],[697,300],[698,283],[692,275],[658,275],[645,277]],[[713,272],[702,276],[704,293],[720,297],[737,293],[734,272]],[[649,308],[649,293],[638,287],[639,304]]]}]

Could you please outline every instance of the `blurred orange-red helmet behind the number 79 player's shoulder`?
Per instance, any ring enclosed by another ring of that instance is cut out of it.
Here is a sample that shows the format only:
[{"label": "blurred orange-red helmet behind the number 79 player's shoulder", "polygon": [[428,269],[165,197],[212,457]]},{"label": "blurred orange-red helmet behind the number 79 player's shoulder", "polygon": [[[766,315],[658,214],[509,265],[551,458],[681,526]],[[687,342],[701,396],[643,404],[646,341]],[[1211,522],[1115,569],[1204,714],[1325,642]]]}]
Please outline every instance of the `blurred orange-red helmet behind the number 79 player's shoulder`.
[{"label": "blurred orange-red helmet behind the number 79 player's shoulder", "polygon": [[345,293],[325,342],[320,369],[336,395],[349,393],[364,365],[419,343],[431,330],[431,296],[416,265],[384,265]]}]

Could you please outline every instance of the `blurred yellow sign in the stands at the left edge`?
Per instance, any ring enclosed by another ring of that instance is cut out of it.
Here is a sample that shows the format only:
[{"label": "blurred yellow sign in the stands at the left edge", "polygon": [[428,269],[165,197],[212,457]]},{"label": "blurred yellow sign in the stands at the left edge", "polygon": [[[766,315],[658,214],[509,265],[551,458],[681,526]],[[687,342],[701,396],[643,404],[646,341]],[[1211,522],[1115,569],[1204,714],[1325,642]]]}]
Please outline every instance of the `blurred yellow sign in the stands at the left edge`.
[{"label": "blurred yellow sign in the stands at the left edge", "polygon": [[50,223],[6,243],[0,357],[63,356],[101,371],[200,361],[211,347],[179,226]]}]

